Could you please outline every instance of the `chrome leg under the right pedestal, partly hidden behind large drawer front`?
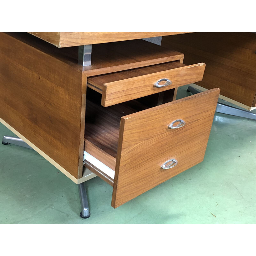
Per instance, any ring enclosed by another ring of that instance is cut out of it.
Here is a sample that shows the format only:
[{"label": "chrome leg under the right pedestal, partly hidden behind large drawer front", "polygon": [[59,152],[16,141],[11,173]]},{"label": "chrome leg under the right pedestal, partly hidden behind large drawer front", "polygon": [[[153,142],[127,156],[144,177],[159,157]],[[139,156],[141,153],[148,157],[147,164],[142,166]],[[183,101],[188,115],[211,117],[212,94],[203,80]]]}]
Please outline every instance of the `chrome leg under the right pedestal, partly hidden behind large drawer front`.
[{"label": "chrome leg under the right pedestal, partly hidden behind large drawer front", "polygon": [[[192,94],[199,93],[199,91],[197,91],[195,88],[193,88],[190,85],[188,86],[187,92],[191,92]],[[234,108],[219,102],[217,103],[216,112],[222,113],[222,114],[228,114],[231,116],[240,116],[240,117],[256,120],[256,114],[250,111],[243,110],[240,108]]]}]

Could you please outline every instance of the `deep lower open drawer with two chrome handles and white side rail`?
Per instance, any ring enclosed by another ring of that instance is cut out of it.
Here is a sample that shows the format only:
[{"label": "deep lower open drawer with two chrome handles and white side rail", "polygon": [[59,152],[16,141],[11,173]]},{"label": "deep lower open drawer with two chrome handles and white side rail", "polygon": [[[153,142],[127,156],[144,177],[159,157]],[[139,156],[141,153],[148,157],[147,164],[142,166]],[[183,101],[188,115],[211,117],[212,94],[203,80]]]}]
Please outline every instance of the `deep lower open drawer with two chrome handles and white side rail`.
[{"label": "deep lower open drawer with two chrome handles and white side rail", "polygon": [[203,161],[219,92],[148,109],[135,100],[108,108],[87,100],[86,166],[113,186],[112,207]]}]

